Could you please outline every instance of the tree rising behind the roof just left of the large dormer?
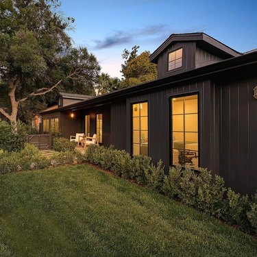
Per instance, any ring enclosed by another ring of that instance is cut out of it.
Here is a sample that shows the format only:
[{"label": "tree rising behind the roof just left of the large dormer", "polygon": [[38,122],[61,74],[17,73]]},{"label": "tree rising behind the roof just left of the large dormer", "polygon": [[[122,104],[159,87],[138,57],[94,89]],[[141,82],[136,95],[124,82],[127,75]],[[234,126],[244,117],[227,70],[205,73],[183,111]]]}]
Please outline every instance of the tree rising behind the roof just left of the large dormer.
[{"label": "tree rising behind the roof just left of the large dormer", "polygon": [[157,78],[157,65],[149,60],[149,51],[137,55],[138,46],[132,47],[132,51],[124,49],[122,57],[125,63],[121,65],[121,72],[124,79],[121,81],[121,88],[134,86]]}]

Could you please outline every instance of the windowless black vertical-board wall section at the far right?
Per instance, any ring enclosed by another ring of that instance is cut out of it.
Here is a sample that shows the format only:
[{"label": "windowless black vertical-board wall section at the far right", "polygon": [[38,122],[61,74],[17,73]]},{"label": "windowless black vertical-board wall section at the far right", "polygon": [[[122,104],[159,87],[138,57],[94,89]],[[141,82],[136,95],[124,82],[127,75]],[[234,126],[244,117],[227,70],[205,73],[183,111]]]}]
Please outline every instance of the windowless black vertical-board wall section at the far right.
[{"label": "windowless black vertical-board wall section at the far right", "polygon": [[[249,76],[247,76],[247,73]],[[257,100],[254,70],[234,71],[217,82],[221,88],[220,175],[241,193],[257,189]],[[244,76],[244,77],[243,77]],[[227,79],[226,79],[227,77]]]}]

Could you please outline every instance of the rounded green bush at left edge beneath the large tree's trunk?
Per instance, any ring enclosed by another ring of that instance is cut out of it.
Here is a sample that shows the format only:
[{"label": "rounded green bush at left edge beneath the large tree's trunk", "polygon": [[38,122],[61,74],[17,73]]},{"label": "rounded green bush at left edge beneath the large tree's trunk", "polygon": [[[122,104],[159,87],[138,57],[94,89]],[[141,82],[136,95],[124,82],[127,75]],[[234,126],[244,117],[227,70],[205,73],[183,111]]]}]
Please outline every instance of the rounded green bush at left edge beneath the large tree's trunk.
[{"label": "rounded green bush at left edge beneath the large tree's trunk", "polygon": [[23,123],[17,123],[17,132],[14,125],[0,121],[0,149],[4,151],[21,151],[26,140],[26,129]]}]

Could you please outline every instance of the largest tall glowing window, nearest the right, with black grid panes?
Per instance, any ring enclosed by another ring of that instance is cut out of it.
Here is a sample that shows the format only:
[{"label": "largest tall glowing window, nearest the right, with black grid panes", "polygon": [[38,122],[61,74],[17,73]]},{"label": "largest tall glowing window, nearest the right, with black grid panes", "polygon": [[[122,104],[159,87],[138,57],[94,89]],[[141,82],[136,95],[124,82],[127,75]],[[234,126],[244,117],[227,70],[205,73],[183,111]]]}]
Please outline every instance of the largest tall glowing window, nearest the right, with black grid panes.
[{"label": "largest tall glowing window, nearest the right, with black grid panes", "polygon": [[198,168],[198,96],[171,99],[172,163]]}]

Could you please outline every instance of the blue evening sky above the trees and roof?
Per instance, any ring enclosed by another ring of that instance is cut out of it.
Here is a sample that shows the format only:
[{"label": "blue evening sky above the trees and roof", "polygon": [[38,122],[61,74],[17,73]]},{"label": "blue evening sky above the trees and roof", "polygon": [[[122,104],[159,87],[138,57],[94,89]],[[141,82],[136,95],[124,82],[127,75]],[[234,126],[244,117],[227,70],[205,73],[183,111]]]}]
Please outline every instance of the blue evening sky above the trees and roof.
[{"label": "blue evening sky above the trees and roof", "polygon": [[241,52],[257,48],[257,0],[61,0],[75,18],[75,45],[97,56],[101,71],[121,77],[123,49],[153,52],[170,34],[205,32]]}]

